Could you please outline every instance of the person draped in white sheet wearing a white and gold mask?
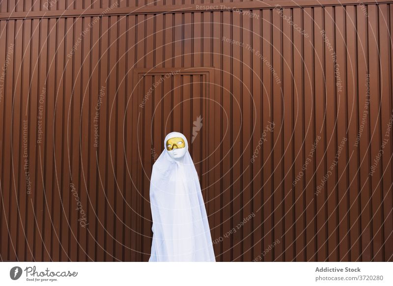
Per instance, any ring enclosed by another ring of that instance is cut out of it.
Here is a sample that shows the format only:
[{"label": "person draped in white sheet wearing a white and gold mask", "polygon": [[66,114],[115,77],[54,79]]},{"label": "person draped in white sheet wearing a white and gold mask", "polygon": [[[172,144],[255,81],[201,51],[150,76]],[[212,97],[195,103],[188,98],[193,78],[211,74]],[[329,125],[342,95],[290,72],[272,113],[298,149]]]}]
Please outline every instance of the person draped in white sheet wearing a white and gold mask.
[{"label": "person draped in white sheet wearing a white and gold mask", "polygon": [[150,181],[149,261],[216,261],[197,170],[186,137],[171,132]]}]

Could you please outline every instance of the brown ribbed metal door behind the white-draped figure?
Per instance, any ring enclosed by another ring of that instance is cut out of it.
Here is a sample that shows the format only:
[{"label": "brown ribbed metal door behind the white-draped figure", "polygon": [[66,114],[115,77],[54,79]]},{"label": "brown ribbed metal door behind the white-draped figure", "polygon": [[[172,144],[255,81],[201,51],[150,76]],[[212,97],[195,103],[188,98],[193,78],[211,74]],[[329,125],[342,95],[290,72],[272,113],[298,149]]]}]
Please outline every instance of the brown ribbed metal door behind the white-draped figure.
[{"label": "brown ribbed metal door behind the white-draped figure", "polygon": [[[149,186],[151,169],[164,148],[164,138],[172,131],[183,133],[197,169],[202,193],[207,194],[209,144],[209,72],[192,69],[136,70],[132,98],[132,133],[127,142],[133,150],[131,178],[136,198],[131,209],[135,236],[131,246],[139,253],[138,260],[149,258],[151,247],[151,213]],[[138,104],[136,104],[138,103]],[[204,124],[204,122],[207,122]]]}]

